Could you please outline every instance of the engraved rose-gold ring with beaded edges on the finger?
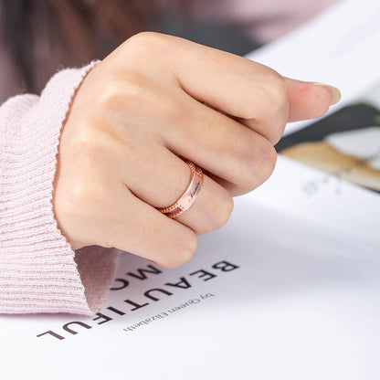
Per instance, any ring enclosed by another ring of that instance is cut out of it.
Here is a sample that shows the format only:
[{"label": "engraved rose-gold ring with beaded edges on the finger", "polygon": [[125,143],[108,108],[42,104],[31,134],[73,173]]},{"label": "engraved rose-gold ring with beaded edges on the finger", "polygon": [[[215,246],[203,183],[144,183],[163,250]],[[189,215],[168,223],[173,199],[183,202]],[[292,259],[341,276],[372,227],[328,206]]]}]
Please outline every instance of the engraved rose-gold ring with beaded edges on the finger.
[{"label": "engraved rose-gold ring with beaded edges on the finger", "polygon": [[186,187],[185,193],[181,195],[173,205],[164,208],[157,208],[158,211],[172,219],[184,214],[185,211],[193,206],[203,184],[202,169],[193,164],[191,161],[186,160],[185,163],[189,165],[191,171],[190,182]]}]

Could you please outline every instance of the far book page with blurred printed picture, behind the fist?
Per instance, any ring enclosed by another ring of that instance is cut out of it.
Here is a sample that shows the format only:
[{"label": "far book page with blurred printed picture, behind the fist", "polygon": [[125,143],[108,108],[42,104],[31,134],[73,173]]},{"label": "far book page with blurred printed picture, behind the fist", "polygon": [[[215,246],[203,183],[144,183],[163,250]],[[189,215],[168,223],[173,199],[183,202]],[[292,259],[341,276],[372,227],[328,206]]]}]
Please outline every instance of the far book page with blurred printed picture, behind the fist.
[{"label": "far book page with blurred printed picture, behind the fist", "polygon": [[[266,205],[380,248],[380,3],[345,0],[248,55],[290,78],[325,82],[343,99],[317,121],[287,126]],[[310,170],[307,166],[312,167]],[[350,184],[352,185],[350,185]]]}]

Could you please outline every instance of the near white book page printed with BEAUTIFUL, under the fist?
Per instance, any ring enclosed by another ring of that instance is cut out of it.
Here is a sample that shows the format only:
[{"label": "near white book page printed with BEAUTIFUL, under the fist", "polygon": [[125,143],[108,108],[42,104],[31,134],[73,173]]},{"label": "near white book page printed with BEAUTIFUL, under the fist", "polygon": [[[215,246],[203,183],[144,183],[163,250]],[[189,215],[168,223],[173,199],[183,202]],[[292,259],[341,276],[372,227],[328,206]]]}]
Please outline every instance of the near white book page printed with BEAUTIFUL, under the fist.
[{"label": "near white book page printed with BEAUTIFUL, under the fist", "polygon": [[227,227],[201,237],[179,269],[121,255],[114,290],[93,318],[0,317],[2,373],[375,380],[376,253],[239,197]]}]

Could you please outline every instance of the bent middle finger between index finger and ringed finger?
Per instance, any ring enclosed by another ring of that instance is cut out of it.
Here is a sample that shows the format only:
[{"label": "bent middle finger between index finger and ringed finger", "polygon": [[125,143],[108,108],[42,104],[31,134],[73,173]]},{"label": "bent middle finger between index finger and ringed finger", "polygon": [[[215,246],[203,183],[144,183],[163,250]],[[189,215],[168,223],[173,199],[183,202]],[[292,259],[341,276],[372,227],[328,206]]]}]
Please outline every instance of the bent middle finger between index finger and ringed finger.
[{"label": "bent middle finger between index finger and ringed finger", "polygon": [[181,118],[160,130],[172,152],[206,169],[231,195],[248,193],[269,178],[277,154],[268,139],[186,94],[176,104]]}]

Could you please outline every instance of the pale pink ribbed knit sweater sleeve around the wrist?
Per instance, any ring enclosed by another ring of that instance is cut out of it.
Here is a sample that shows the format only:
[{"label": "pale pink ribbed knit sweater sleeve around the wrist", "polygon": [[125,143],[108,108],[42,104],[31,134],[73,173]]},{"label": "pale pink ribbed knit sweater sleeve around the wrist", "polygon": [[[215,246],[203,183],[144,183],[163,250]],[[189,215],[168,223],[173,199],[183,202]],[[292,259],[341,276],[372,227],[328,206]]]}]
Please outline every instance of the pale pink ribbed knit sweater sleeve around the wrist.
[{"label": "pale pink ribbed knit sweater sleeve around the wrist", "polygon": [[117,251],[74,252],[52,209],[59,136],[70,101],[96,63],[65,69],[40,97],[0,107],[0,312],[90,315],[108,294]]}]

